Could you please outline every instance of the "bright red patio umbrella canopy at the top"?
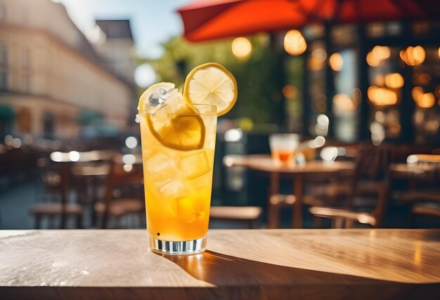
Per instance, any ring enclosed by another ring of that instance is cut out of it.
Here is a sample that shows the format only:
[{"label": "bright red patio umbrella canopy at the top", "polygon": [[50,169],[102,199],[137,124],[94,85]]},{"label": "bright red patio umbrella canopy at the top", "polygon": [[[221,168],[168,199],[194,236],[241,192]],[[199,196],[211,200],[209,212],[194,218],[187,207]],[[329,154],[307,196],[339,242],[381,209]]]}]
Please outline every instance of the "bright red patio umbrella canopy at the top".
[{"label": "bright red patio umbrella canopy at the top", "polygon": [[301,28],[313,23],[437,19],[432,0],[196,0],[180,8],[188,41]]}]

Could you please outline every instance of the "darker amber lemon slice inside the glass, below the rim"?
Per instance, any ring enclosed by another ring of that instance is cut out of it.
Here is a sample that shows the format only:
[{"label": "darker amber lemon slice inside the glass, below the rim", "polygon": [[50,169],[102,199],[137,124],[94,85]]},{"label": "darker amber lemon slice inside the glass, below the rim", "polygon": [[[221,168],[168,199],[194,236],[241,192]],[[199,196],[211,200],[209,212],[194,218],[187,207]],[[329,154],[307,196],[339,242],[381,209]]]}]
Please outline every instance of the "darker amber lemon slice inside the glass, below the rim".
[{"label": "darker amber lemon slice inside the glass, below the rim", "polygon": [[155,114],[146,115],[151,133],[160,144],[179,151],[202,149],[205,124],[187,104],[165,104]]}]

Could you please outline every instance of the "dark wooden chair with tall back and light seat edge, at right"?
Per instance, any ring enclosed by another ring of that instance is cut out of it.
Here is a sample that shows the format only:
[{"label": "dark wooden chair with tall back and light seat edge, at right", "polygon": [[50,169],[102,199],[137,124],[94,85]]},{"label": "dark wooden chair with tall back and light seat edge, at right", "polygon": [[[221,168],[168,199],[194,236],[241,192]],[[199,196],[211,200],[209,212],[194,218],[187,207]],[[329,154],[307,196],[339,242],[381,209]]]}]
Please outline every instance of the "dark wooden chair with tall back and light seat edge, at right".
[{"label": "dark wooden chair with tall back and light seat edge, at right", "polygon": [[[334,228],[350,228],[355,221],[382,226],[389,193],[389,180],[384,170],[387,170],[390,157],[387,148],[364,146],[356,158],[351,178],[323,189],[317,198],[326,205],[312,206],[309,212],[316,218],[331,219]],[[321,224],[320,219],[316,219],[316,224]]]}]

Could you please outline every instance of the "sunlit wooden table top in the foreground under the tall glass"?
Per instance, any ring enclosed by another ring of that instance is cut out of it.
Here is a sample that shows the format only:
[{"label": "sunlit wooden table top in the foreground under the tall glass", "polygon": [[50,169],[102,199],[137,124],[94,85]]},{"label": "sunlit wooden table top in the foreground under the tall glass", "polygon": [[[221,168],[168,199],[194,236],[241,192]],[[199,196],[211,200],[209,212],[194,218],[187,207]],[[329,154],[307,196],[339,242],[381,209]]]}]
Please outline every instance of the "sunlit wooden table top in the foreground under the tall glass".
[{"label": "sunlit wooden table top in the foreground under the tall glass", "polygon": [[0,231],[0,298],[376,300],[440,293],[434,229],[211,230],[202,254],[161,256],[147,247],[145,230]]}]

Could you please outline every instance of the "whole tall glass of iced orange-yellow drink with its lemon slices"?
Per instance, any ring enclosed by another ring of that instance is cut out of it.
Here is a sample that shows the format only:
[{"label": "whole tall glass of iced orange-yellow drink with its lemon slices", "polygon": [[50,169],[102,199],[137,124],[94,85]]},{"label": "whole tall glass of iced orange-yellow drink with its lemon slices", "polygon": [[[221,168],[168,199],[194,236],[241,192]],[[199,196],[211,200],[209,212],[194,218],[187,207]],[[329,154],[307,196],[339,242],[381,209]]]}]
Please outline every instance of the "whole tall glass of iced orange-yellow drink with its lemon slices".
[{"label": "whole tall glass of iced orange-yellow drink with its lemon slices", "polygon": [[157,83],[139,100],[149,248],[161,254],[204,251],[209,226],[217,116],[237,98],[219,64],[193,69],[181,95]]}]

